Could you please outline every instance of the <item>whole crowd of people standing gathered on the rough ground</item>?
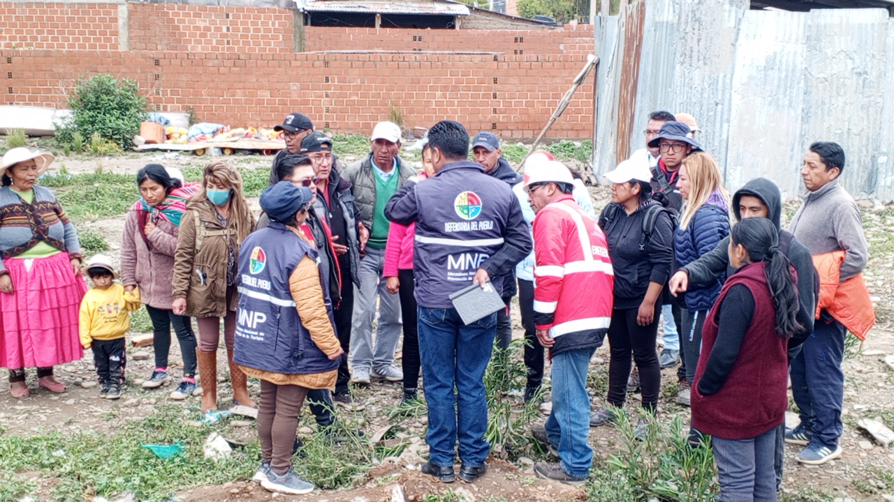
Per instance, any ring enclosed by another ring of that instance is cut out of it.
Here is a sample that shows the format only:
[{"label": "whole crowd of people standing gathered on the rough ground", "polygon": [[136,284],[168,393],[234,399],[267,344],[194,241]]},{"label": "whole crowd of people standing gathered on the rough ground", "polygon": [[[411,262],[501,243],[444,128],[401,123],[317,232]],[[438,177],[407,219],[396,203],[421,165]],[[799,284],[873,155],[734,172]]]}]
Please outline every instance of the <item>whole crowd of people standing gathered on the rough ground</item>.
[{"label": "whole crowd of people standing gathered on the rough ground", "polygon": [[[556,460],[535,465],[541,477],[584,483],[589,428],[628,413],[629,392],[642,394],[635,435],[645,437],[661,369],[678,362],[689,441],[696,448],[710,437],[722,500],[775,500],[786,442],[804,447],[805,464],[841,455],[844,340],[848,330],[864,337],[874,316],[838,144],[809,147],[804,202],[782,230],[780,189],[758,178],[730,197],[687,113],[650,114],[645,148],[605,174],[611,203],[598,215],[579,174],[548,152],[529,155],[519,175],[496,135],[470,138],[456,121],[428,131],[420,172],[401,158],[392,122],[376,124],[370,152],[347,166],[307,116],[291,113],[276,130],[286,148],[259,217],[227,163],[208,163],[198,183],[160,164],[139,170],[120,276],[105,255],[81,264],[72,222],[36,184],[53,156],[4,155],[0,364],[13,397],[29,396],[30,367],[41,388],[63,392],[53,367],[86,349],[101,396],[121,397],[124,337],[142,304],[155,352],[142,387],[173,380],[173,328],[183,369],[170,398],[190,397],[200,377],[207,423],[220,417],[223,325],[232,399],[258,409],[253,479],[266,489],[314,489],[292,466],[305,401],[327,431],[335,405],[353,405],[349,383],[374,380],[401,382],[401,406],[424,397],[421,471],[474,482],[490,450],[485,369],[509,347],[518,295],[526,402],[540,395],[544,356],[551,362],[552,412],[531,430]],[[502,307],[465,322],[452,298],[473,286],[498,293]],[[586,377],[606,338],[608,396],[591,410]],[[784,425],[789,376],[801,419],[794,429]],[[260,380],[257,405],[248,377]]]}]

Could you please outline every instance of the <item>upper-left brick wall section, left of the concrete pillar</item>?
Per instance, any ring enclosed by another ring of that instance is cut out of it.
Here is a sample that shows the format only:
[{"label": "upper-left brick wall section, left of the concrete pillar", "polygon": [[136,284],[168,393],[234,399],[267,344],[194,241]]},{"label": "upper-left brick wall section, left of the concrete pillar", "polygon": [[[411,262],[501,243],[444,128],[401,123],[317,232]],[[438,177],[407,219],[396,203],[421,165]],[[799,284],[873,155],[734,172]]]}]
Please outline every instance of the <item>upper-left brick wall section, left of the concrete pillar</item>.
[{"label": "upper-left brick wall section, left of the concrete pillar", "polygon": [[118,5],[0,3],[0,47],[118,49]]}]

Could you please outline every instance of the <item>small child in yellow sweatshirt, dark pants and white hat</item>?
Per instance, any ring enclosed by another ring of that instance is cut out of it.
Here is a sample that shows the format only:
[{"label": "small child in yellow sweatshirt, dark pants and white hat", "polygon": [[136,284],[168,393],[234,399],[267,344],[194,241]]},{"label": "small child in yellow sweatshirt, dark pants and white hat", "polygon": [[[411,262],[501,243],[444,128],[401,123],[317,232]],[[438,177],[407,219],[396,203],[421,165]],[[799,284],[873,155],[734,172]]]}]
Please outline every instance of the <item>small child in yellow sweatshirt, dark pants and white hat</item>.
[{"label": "small child in yellow sweatshirt, dark pants and white hat", "polygon": [[95,255],[87,262],[87,274],[93,281],[80,302],[80,345],[93,347],[93,364],[97,366],[100,397],[121,397],[124,383],[124,334],[131,329],[131,312],[139,308],[139,289],[133,293],[115,284],[118,275],[105,255]]}]

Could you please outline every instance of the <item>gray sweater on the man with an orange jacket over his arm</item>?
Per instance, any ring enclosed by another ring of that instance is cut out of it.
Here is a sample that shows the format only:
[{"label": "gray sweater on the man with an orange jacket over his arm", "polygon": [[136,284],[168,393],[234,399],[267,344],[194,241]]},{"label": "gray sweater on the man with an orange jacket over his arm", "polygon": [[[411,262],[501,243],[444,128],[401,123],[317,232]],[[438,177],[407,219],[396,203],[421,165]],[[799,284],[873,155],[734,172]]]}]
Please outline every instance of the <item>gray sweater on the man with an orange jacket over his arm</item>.
[{"label": "gray sweater on the man with an orange jacket over his arm", "polygon": [[805,190],[800,196],[804,204],[792,216],[789,231],[811,255],[844,250],[842,281],[863,272],[869,249],[863,233],[863,216],[854,197],[850,197],[839,180],[831,180],[814,192]]}]

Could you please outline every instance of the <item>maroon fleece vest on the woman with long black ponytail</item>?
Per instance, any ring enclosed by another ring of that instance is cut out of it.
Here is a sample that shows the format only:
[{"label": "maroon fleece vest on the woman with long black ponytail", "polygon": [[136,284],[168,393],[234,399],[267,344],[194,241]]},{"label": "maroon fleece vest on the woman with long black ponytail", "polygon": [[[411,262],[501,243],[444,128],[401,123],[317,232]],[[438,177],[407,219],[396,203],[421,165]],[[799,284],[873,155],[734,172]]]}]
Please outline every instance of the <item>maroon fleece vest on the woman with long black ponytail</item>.
[{"label": "maroon fleece vest on the woman with long black ponytail", "polygon": [[[789,407],[786,390],[788,344],[776,333],[776,311],[763,267],[763,262],[748,264],[731,275],[704,320],[702,353],[692,384],[692,424],[698,431],[718,438],[748,439],[760,436],[779,426],[785,420],[785,411]],[[698,381],[717,342],[720,306],[730,288],[737,284],[751,291],[751,296],[755,298],[755,315],[742,339],[736,363],[726,383],[716,394],[702,396],[698,392]]]}]

